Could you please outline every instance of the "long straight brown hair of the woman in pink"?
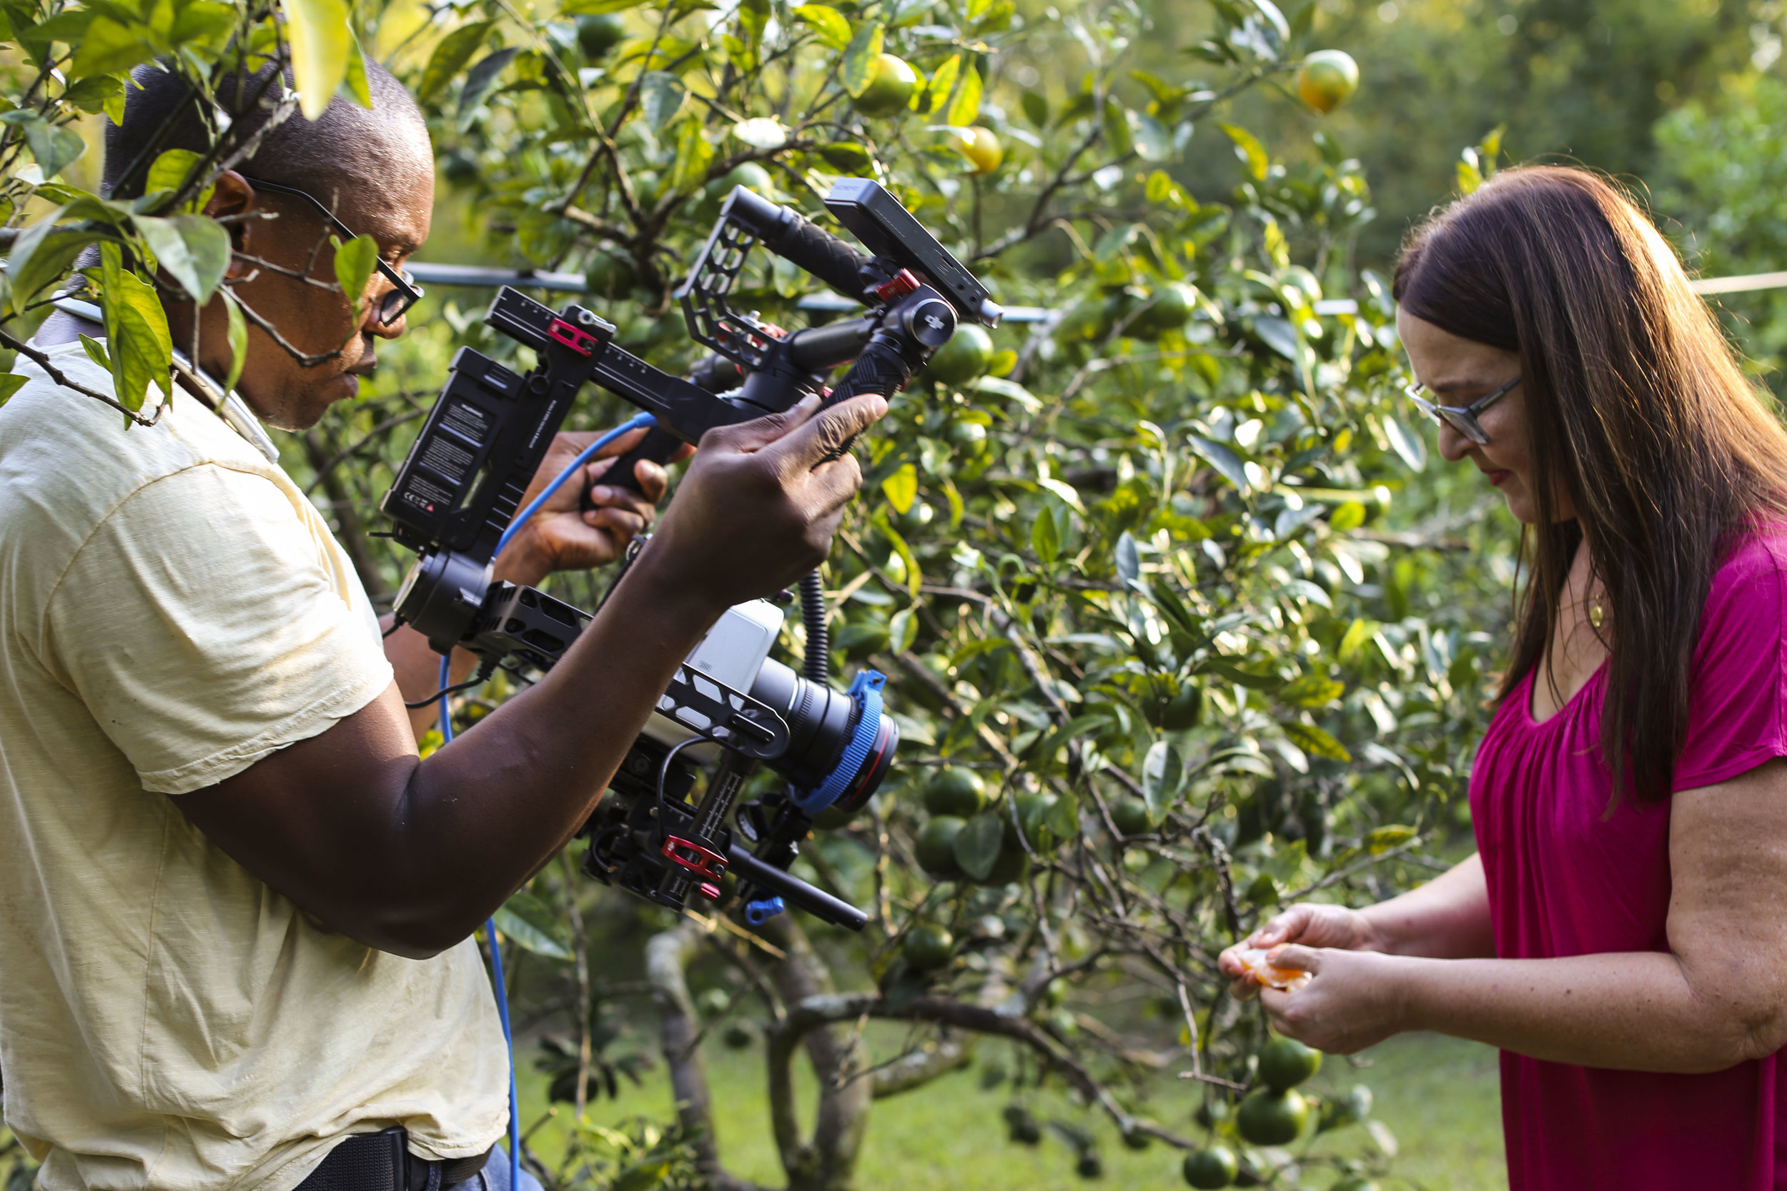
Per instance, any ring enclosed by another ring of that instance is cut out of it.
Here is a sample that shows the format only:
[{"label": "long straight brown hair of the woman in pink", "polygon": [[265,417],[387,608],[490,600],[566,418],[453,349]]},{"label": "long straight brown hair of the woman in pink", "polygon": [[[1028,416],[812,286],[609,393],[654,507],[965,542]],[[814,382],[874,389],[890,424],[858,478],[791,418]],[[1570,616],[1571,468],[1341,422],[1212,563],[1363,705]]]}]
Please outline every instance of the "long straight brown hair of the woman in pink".
[{"label": "long straight brown hair of the woman in pink", "polygon": [[[1528,579],[1499,698],[1544,659],[1587,537],[1610,614],[1601,757],[1614,798],[1667,798],[1701,605],[1733,534],[1787,511],[1787,432],[1667,241],[1594,173],[1498,173],[1408,237],[1394,295],[1521,357],[1539,521],[1521,532]],[[1556,520],[1558,493],[1574,521]]]}]

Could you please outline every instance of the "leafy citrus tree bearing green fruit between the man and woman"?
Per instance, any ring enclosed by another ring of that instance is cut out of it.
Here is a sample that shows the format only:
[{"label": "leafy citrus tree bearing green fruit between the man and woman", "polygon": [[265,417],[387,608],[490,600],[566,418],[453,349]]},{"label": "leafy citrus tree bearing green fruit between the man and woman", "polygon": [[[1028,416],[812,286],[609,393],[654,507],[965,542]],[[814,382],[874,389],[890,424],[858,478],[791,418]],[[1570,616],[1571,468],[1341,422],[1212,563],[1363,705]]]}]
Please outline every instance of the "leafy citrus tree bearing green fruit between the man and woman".
[{"label": "leafy citrus tree bearing green fruit between the man and woman", "polygon": [[[1269,1039],[1215,955],[1281,904],[1374,900],[1440,864],[1506,614],[1485,593],[1514,568],[1501,521],[1426,470],[1385,282],[1353,266],[1371,196],[1319,112],[1356,73],[1310,43],[1313,5],[286,7],[0,5],[16,46],[0,332],[34,354],[57,287],[98,300],[109,334],[89,350],[118,393],[84,400],[145,418],[172,352],[157,291],[241,305],[227,237],[195,214],[252,152],[229,129],[209,154],[154,157],[138,202],[57,179],[77,121],[114,114],[123,71],[154,55],[214,87],[289,54],[284,118],[363,95],[361,55],[379,55],[436,137],[431,255],[445,241],[579,273],[620,343],[668,370],[697,359],[670,291],[738,184],[824,221],[831,180],[874,177],[1003,304],[1044,312],[960,332],[858,446],[863,496],[824,568],[833,666],[890,677],[902,745],[797,871],[867,907],[868,929],[672,918],[572,857],[550,866],[486,941],[525,954],[524,1021],[577,1121],[529,1164],[552,1186],[742,1186],[711,1129],[697,1043],[715,1030],[763,1046],[790,1187],[851,1186],[874,1100],[967,1064],[1010,1095],[985,1129],[1053,1136],[1086,1177],[1113,1145],[1192,1186],[1387,1173],[1396,1141],[1369,1091],[1338,1062],[1306,1082],[1319,1055]],[[1163,41],[1170,71],[1135,66]],[[1233,123],[1247,91],[1305,112],[1301,164]],[[1192,177],[1194,136],[1231,145],[1233,170]],[[91,245],[100,266],[70,277]],[[338,259],[356,293],[356,254]],[[759,255],[734,293],[792,327],[827,316],[801,305],[820,289]],[[525,355],[479,304],[431,295],[370,395],[284,443],[375,596],[407,559],[373,537],[373,505],[452,348]],[[622,409],[590,393],[575,416]],[[554,591],[590,605],[599,582]],[[802,654],[799,623],[781,645]],[[456,702],[463,729],[506,682]],[[624,1011],[634,993],[650,1014]],[[627,1048],[629,1018],[656,1057]],[[581,1123],[649,1062],[675,1120]]]}]

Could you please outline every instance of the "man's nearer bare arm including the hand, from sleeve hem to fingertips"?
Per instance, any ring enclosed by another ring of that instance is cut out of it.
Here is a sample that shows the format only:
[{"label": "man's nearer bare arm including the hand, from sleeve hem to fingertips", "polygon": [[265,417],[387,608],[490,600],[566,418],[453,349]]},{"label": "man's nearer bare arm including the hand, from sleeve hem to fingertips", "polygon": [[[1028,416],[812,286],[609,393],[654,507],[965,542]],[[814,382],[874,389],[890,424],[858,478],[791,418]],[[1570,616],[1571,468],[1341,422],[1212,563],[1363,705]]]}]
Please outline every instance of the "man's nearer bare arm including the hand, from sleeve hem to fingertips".
[{"label": "man's nearer bare arm including the hand, from sleeve hem to fingertips", "polygon": [[824,559],[861,473],[849,455],[818,461],[886,404],[854,398],[817,418],[815,404],[709,432],[652,545],[563,661],[427,761],[393,684],[177,805],[368,946],[427,957],[465,939],[590,816],[718,614]]}]

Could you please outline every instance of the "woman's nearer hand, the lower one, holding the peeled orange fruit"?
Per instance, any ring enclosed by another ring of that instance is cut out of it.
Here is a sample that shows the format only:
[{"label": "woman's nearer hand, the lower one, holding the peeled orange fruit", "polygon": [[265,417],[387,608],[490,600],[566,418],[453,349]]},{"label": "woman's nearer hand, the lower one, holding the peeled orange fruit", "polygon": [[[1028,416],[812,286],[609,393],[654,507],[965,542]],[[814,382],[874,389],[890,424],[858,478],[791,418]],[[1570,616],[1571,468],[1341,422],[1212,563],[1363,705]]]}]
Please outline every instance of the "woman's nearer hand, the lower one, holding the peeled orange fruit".
[{"label": "woman's nearer hand, the lower one, holding the peeled orange fruit", "polygon": [[1405,989],[1417,962],[1365,950],[1281,946],[1274,966],[1315,979],[1294,993],[1265,989],[1260,1004],[1285,1037],[1351,1055],[1408,1029]]}]

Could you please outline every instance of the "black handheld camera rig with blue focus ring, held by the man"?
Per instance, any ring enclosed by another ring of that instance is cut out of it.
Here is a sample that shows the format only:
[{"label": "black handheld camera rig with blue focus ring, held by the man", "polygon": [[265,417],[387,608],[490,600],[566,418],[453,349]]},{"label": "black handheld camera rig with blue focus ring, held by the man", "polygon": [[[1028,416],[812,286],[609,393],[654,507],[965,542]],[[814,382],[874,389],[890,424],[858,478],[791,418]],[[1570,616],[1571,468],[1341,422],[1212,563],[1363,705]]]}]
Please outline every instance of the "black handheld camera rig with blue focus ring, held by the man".
[{"label": "black handheld camera rig with blue focus ring, held by the man", "polygon": [[[586,382],[656,418],[643,441],[609,466],[613,479],[604,477],[636,487],[638,459],[661,462],[713,427],[784,411],[808,393],[826,393],[822,407],[856,393],[892,396],[961,318],[999,323],[986,287],[879,184],[845,179],[826,195],[826,209],[868,255],[797,211],[733,189],[675,291],[690,334],[715,352],[690,380],[617,346],[613,323],[595,311],[577,304],[552,311],[500,289],[484,321],[533,348],[536,364],[522,375],[472,348],[454,355],[447,386],[381,502],[391,536],[420,555],[399,591],[397,620],[443,655],[454,646],[477,655],[474,682],[499,666],[549,670],[570,648],[591,612],[495,580],[491,559]],[[861,302],[863,314],[783,332],[733,311],[727,296],[756,245]],[[827,393],[827,375],[845,362],[849,371]],[[629,562],[642,545],[634,539]],[[768,655],[783,611],[767,600],[729,609],[677,668],[611,779],[613,796],[581,832],[590,841],[586,873],[674,909],[690,893],[718,902],[731,873],[754,925],[797,905],[863,927],[863,911],[788,866],[817,814],[854,812],[874,795],[899,729],[883,711],[879,673],[860,671],[847,691],[831,687],[817,575],[801,582],[801,596],[808,630],[801,673]],[[697,752],[717,759],[692,804]],[[734,805],[758,766],[784,779],[784,789]]]}]

